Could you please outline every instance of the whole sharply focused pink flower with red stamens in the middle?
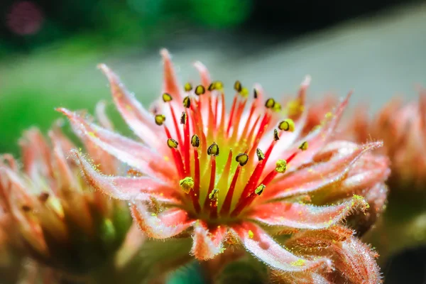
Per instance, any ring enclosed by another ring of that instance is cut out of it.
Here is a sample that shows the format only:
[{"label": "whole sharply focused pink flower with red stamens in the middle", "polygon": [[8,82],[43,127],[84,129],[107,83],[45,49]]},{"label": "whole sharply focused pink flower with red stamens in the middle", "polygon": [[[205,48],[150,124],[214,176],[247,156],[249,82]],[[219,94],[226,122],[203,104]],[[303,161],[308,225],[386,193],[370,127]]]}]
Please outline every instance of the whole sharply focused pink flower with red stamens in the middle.
[{"label": "whole sharply focused pink flower with red stamens in the middle", "polygon": [[[190,234],[191,253],[197,259],[212,259],[241,244],[272,270],[288,275],[337,267],[329,256],[293,253],[273,235],[310,231],[320,240],[324,230],[342,223],[356,209],[368,208],[357,194],[368,194],[386,180],[387,160],[367,155],[381,142],[334,141],[349,96],[322,126],[304,135],[309,78],[296,99],[282,103],[265,100],[258,84],[249,99],[249,89],[236,81],[227,112],[224,84],[210,80],[202,63],[195,63],[201,84],[181,88],[168,51],[161,55],[163,94],[151,112],[109,67],[99,65],[117,109],[141,141],[58,109],[80,136],[131,167],[127,176],[104,175],[74,151],[90,184],[131,202],[133,219],[147,236],[168,239]],[[364,247],[357,240],[351,246]],[[370,258],[368,253],[359,257]],[[372,266],[360,275],[365,283],[379,278],[374,261]],[[342,277],[354,273],[351,269],[355,268],[343,268]]]}]

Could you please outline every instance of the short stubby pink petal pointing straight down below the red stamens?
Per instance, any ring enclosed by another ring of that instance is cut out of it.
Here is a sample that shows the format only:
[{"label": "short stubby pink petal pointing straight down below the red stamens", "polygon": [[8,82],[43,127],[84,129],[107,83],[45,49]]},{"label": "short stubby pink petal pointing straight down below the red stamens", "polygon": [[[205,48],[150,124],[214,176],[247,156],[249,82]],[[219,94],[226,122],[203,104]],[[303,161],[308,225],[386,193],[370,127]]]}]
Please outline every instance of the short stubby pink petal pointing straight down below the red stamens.
[{"label": "short stubby pink petal pointing straight down below the red stamens", "polygon": [[215,226],[208,229],[207,224],[200,221],[194,228],[191,253],[200,260],[211,259],[222,253],[226,231],[226,226]]}]

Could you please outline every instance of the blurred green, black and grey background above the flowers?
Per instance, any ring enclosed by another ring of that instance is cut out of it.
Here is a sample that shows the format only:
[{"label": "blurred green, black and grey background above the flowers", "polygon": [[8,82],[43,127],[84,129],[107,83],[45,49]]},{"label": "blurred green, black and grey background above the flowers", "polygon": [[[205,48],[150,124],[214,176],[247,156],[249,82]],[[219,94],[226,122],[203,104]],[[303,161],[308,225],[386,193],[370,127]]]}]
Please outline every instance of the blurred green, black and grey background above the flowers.
[{"label": "blurred green, black and grey background above the flowers", "polygon": [[[294,94],[309,74],[312,99],[354,89],[353,107],[376,110],[425,86],[425,35],[425,1],[1,0],[0,152],[18,155],[22,131],[46,131],[55,107],[111,102],[99,62],[146,106],[160,95],[158,50],[168,48],[185,82],[198,80],[195,60],[229,91],[234,80],[259,82],[273,97]],[[417,274],[386,268],[386,283],[422,283],[422,256],[409,256]]]}]

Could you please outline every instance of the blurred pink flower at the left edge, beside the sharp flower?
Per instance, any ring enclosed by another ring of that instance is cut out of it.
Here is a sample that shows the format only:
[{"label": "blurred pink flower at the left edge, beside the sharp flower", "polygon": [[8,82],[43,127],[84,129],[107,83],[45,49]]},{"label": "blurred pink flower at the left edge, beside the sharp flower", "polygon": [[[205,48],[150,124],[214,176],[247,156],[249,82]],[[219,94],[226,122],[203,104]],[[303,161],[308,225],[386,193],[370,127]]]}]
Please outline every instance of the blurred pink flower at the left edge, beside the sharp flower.
[{"label": "blurred pink flower at the left edge, beside the sharp flower", "polygon": [[[103,266],[121,246],[131,224],[126,203],[92,190],[67,152],[75,148],[58,126],[52,148],[38,129],[21,138],[22,170],[2,156],[0,196],[26,255],[65,275],[85,275]],[[94,163],[115,172],[116,160],[84,141]]]}]

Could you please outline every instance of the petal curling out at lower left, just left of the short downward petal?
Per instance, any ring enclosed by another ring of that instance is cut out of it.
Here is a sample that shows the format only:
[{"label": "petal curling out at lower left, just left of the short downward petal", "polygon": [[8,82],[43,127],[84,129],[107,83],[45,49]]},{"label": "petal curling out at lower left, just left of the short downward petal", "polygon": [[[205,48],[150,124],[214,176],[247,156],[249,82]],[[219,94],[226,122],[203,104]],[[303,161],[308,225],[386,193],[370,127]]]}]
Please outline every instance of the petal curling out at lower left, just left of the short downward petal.
[{"label": "petal curling out at lower left, just left of the short downward petal", "polygon": [[139,225],[139,228],[149,237],[155,239],[167,239],[176,236],[195,223],[195,220],[189,219],[185,210],[172,208],[159,214],[148,212],[148,208],[138,202],[131,206],[133,219]]}]

